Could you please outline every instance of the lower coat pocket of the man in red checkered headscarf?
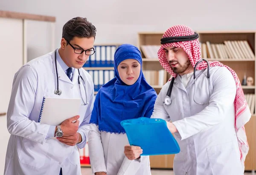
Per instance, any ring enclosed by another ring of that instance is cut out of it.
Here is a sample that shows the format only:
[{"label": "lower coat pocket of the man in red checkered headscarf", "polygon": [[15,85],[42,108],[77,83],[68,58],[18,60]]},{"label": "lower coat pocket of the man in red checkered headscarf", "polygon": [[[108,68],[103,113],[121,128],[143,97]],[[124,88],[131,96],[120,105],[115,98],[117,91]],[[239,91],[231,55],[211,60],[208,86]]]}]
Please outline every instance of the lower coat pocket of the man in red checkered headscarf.
[{"label": "lower coat pocket of the man in red checkered headscarf", "polygon": [[[242,175],[239,149],[235,148],[235,142],[207,148],[209,164],[212,175]],[[240,173],[239,173],[240,172]]]}]

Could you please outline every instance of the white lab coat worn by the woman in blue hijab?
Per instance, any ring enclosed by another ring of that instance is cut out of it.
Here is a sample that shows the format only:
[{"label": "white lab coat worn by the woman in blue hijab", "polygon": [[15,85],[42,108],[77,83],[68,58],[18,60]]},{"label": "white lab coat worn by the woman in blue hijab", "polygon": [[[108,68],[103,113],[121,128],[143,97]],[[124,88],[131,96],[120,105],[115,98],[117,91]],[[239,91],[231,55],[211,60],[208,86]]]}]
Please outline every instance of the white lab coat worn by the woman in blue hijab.
[{"label": "white lab coat worn by the woman in blue hijab", "polygon": [[151,175],[149,156],[133,161],[125,156],[125,145],[129,145],[126,134],[101,132],[98,125],[90,124],[88,137],[93,174],[104,171],[107,175]]}]

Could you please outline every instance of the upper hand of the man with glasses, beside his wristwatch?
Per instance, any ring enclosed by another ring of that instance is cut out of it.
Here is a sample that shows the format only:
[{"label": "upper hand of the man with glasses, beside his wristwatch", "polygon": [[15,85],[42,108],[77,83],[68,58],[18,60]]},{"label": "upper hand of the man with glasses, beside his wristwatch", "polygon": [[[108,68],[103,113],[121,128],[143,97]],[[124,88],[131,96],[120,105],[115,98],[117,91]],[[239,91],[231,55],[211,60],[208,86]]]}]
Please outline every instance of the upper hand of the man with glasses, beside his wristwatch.
[{"label": "upper hand of the man with glasses, beside his wristwatch", "polygon": [[[61,123],[61,130],[63,132],[63,136],[70,136],[70,135],[76,134],[76,132],[78,130],[78,126],[79,126],[79,120],[78,120],[79,118],[80,118],[80,116],[74,116],[67,120],[64,120]],[[76,122],[73,123],[72,121],[76,121]]]}]

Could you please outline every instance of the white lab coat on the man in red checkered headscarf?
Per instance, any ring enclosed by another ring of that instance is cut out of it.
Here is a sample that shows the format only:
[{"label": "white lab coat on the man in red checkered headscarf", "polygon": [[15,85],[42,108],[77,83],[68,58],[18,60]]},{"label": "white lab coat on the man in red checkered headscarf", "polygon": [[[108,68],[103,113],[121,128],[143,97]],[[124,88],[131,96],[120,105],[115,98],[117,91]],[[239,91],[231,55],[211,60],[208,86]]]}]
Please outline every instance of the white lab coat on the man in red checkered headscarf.
[{"label": "white lab coat on the man in red checkered headscarf", "polygon": [[[207,70],[196,71],[185,88],[177,76],[172,89],[172,104],[166,106],[170,82],[160,91],[151,118],[172,121],[180,153],[175,155],[175,175],[243,175],[235,132],[234,99],[236,83],[225,67],[210,68],[208,92]],[[195,101],[209,102],[196,104]]]}]

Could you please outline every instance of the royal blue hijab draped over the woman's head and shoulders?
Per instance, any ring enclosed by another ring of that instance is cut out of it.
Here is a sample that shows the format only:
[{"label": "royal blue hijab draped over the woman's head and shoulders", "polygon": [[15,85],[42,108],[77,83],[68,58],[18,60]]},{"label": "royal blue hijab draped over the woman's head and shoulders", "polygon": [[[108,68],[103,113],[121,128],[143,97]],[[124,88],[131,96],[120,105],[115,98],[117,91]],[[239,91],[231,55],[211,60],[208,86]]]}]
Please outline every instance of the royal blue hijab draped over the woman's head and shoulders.
[{"label": "royal blue hijab draped over the woman's head and shoulders", "polygon": [[[136,59],[140,65],[140,76],[133,85],[120,79],[117,66],[125,59]],[[97,124],[99,131],[125,133],[120,122],[139,117],[150,118],[157,93],[148,85],[142,72],[141,53],[130,44],[120,45],[114,54],[115,78],[99,89],[93,106],[90,123]]]}]

